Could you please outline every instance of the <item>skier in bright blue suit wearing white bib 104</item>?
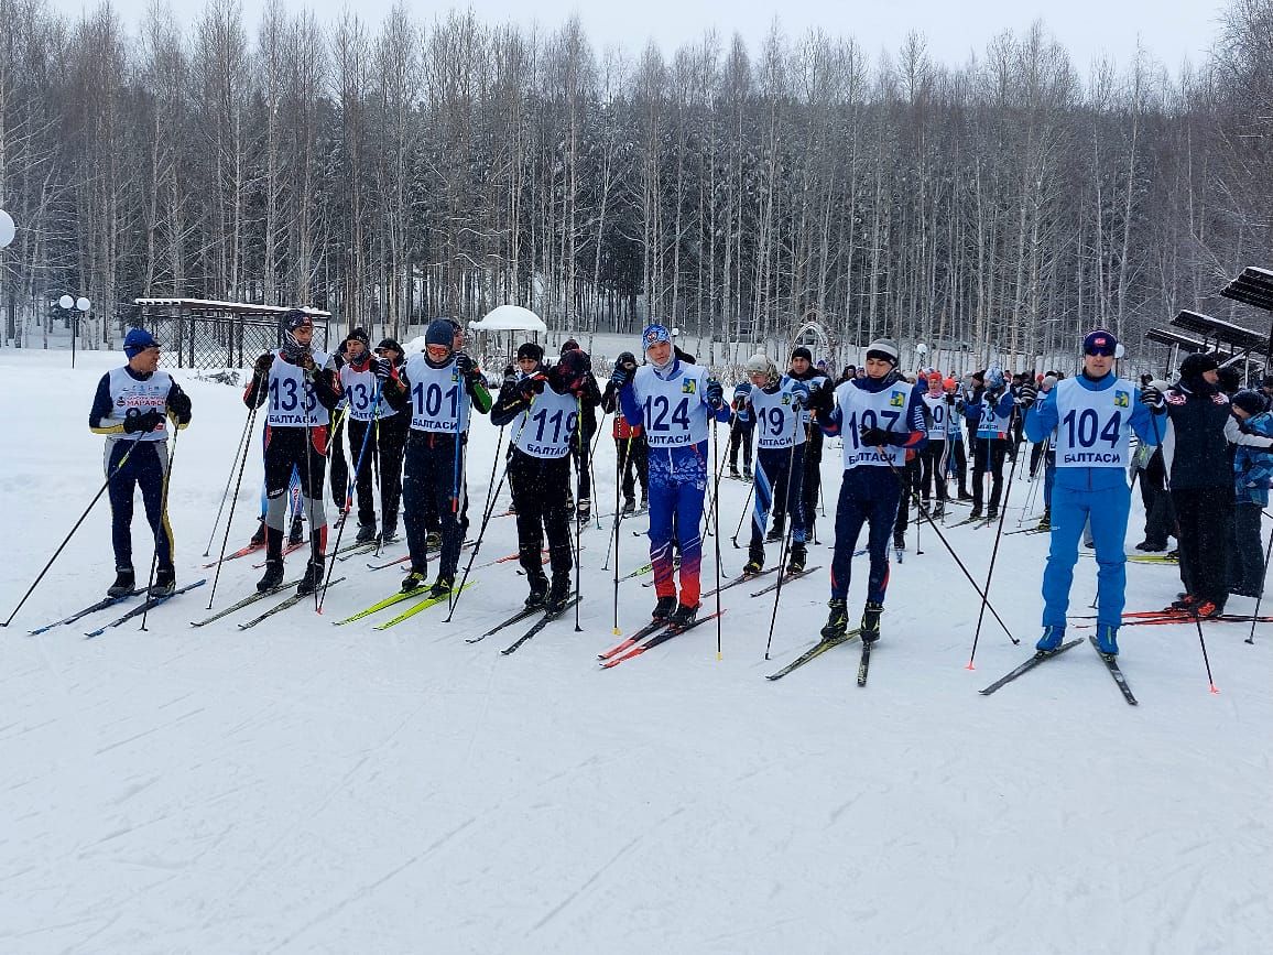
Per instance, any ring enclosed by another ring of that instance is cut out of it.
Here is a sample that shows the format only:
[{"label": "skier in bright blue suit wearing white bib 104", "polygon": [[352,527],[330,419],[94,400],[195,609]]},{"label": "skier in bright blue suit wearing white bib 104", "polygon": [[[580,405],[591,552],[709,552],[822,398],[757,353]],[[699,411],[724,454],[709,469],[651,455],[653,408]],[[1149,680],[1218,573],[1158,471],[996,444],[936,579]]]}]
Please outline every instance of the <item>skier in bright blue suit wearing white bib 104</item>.
[{"label": "skier in bright blue suit wearing white bib 104", "polygon": [[1132,489],[1127,470],[1130,434],[1157,443],[1150,409],[1139,388],[1114,373],[1122,346],[1108,331],[1083,339],[1083,371],[1058,382],[1043,399],[1027,379],[1021,387],[1029,441],[1055,432],[1057,476],[1051,489],[1051,548],[1043,572],[1043,637],[1036,649],[1053,652],[1066,638],[1069,587],[1078,562],[1078,541],[1091,521],[1096,546],[1096,643],[1101,653],[1118,653],[1127,587],[1127,517]]}]

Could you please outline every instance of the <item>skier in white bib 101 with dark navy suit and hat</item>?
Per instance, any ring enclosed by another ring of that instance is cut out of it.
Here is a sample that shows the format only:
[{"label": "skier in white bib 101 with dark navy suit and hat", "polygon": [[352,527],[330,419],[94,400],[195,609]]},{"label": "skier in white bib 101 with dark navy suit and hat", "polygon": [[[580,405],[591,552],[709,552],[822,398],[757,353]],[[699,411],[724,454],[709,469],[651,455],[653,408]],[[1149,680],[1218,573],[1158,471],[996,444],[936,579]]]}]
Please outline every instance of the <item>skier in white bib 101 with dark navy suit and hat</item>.
[{"label": "skier in white bib 101 with dark navy suit and hat", "polygon": [[393,407],[409,409],[402,506],[411,570],[402,581],[410,593],[424,586],[429,572],[425,503],[442,521],[438,578],[430,593],[442,597],[456,584],[465,511],[465,441],[470,410],[490,411],[490,391],[481,371],[465,351],[452,349],[454,326],[446,318],[429,322],[425,349],[410,355],[396,385],[384,393]]}]

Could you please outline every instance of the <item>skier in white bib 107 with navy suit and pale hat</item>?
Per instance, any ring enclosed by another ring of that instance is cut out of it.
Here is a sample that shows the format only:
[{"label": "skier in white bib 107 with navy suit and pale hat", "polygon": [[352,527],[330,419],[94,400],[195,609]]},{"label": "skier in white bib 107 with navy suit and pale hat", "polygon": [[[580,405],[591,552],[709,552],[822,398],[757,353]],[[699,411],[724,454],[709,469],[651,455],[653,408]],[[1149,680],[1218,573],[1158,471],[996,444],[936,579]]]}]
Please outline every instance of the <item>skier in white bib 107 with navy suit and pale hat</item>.
[{"label": "skier in white bib 107 with navy suit and pale hat", "polygon": [[[862,611],[862,639],[880,639],[889,586],[889,537],[903,493],[903,466],[908,451],[924,446],[924,405],[915,390],[897,374],[900,351],[891,339],[867,348],[866,376],[835,390],[835,409],[819,415],[824,433],[844,443],[844,478],[835,508],[835,556],[831,559],[831,612],[824,639],[843,639],[848,632],[849,572],[862,525],[868,525],[871,574]],[[817,409],[817,397],[813,399]],[[825,415],[825,416],[824,416]]]}]

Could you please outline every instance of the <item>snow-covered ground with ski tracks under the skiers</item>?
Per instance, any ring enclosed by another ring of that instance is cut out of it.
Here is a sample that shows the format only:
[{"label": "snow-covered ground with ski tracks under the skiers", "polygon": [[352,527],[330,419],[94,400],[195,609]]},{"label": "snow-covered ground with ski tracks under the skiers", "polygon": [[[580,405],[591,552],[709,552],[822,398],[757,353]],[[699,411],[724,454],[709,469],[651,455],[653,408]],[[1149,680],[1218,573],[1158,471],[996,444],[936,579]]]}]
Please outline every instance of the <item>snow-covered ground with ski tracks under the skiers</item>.
[{"label": "snow-covered ground with ski tracks under the skiers", "polygon": [[[81,353],[71,372],[65,353],[0,350],[4,616],[101,486],[87,414],[117,360]],[[169,508],[190,582],[210,577],[197,568],[244,409],[234,388],[177,376],[195,402]],[[495,434],[476,425],[479,503]],[[829,455],[829,514],[835,465]],[[232,546],[255,526],[258,480],[253,455]],[[1009,507],[1029,486],[1012,486]],[[745,495],[722,484],[729,574]],[[1011,530],[1020,511],[1008,514]],[[139,514],[139,568],[141,526]],[[1137,513],[1129,545],[1139,530]],[[512,553],[514,535],[495,518],[477,563]],[[978,601],[920,535],[924,553],[913,528],[892,569],[858,689],[853,646],[761,679],[822,623],[825,546],[810,562],[824,570],[783,591],[771,661],[771,595],[743,586],[723,596],[723,660],[707,624],[598,671],[615,638],[597,530],[584,539],[583,633],[563,620],[509,657],[498,651],[519,628],[463,638],[521,604],[514,563],[477,572],[452,625],[434,609],[387,632],[370,626],[383,615],[331,626],[397,586],[396,569],[355,559],[322,616],[302,605],[246,632],[234,626],[246,612],[192,629],[206,586],[146,632],[85,640],[106,611],[27,635],[111,581],[102,502],[0,633],[0,951],[1267,951],[1273,628],[1249,646],[1242,625],[1208,626],[1220,695],[1197,632],[1155,626],[1120,638],[1139,707],[1086,646],[983,698],[1037,637],[1046,537],[1003,539],[992,600],[1022,644],[988,619],[969,671]],[[979,577],[990,535],[947,531]],[[624,530],[621,568],[645,560]],[[252,588],[251,563],[225,565],[216,607]],[[290,558],[289,577],[300,567]],[[858,558],[853,606],[864,568]],[[1094,573],[1080,565],[1076,612]],[[1129,609],[1178,590],[1172,568],[1128,573]],[[653,596],[621,587],[629,633]]]}]

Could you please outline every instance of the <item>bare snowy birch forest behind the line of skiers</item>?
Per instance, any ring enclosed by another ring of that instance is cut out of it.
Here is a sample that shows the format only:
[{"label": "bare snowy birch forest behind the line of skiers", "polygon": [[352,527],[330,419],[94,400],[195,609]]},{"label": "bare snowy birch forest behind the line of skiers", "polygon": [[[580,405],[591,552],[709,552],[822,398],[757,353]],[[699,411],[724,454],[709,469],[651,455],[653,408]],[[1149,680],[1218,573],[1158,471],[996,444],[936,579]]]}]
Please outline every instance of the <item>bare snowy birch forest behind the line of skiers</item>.
[{"label": "bare snowy birch forest behind the line of skiers", "polygon": [[1184,67],[1078,64],[1041,23],[962,65],[919,32],[880,55],[777,25],[602,55],[573,20],[278,0],[135,31],[0,0],[0,45],[11,346],[69,292],[90,348],[132,299],[187,297],[398,335],[502,303],[723,343],[817,318],[1025,357],[1241,321],[1216,293],[1273,257],[1273,0],[1235,0]]}]

